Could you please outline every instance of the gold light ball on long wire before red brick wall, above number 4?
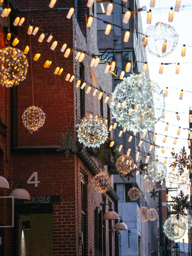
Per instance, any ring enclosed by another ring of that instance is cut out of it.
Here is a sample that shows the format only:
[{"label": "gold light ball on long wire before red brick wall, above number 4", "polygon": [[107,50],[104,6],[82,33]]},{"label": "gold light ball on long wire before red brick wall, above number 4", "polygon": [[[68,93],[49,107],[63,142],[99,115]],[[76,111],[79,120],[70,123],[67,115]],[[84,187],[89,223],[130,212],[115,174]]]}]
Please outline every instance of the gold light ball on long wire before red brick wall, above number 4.
[{"label": "gold light ball on long wire before red brick wall, above number 4", "polygon": [[30,106],[23,112],[22,120],[29,132],[33,133],[44,125],[45,113],[41,108]]}]

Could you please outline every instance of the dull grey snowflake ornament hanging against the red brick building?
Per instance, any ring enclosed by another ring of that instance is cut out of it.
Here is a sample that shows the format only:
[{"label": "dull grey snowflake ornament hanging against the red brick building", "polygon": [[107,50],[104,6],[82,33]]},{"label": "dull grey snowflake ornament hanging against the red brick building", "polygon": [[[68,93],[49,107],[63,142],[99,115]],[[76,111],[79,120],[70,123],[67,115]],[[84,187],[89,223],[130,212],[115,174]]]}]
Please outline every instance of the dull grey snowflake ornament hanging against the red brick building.
[{"label": "dull grey snowflake ornament hanging against the red brick building", "polygon": [[71,129],[68,127],[67,132],[61,133],[59,136],[59,139],[61,141],[61,146],[57,149],[57,151],[65,151],[64,154],[66,158],[70,155],[71,152],[77,153],[77,136],[71,134]]}]

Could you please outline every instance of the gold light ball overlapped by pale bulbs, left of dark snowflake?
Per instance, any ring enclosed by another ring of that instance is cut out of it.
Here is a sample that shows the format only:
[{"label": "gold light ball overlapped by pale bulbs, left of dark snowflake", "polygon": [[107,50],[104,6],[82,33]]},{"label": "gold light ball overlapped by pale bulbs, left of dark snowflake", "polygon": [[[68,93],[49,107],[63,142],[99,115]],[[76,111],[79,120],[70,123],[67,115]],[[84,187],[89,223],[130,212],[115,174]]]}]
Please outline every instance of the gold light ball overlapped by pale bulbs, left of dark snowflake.
[{"label": "gold light ball overlapped by pale bulbs, left of dark snowflake", "polygon": [[119,172],[127,174],[132,171],[134,167],[134,161],[131,156],[123,155],[117,159],[116,167]]}]

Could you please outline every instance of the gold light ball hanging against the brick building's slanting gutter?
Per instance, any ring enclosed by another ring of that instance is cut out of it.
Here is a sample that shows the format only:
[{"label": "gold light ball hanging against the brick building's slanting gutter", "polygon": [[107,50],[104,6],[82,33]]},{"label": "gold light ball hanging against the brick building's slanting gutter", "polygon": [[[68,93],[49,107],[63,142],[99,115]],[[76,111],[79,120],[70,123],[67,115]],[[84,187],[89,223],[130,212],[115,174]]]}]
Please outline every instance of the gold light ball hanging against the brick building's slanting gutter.
[{"label": "gold light ball hanging against the brick building's slanting gutter", "polygon": [[91,180],[92,187],[100,193],[106,193],[111,187],[111,180],[104,172],[96,174]]}]

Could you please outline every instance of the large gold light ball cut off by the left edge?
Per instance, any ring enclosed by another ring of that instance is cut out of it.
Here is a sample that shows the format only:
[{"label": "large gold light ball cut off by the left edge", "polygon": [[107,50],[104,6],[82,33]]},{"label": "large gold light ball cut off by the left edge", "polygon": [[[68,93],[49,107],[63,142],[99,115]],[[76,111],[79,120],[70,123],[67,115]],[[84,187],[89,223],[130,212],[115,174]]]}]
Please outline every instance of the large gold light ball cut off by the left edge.
[{"label": "large gold light ball cut off by the left edge", "polygon": [[6,87],[17,85],[26,78],[28,61],[24,52],[5,47],[0,50],[0,83]]}]

